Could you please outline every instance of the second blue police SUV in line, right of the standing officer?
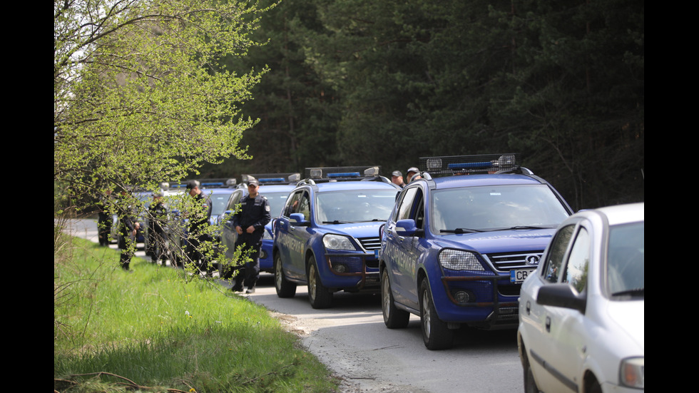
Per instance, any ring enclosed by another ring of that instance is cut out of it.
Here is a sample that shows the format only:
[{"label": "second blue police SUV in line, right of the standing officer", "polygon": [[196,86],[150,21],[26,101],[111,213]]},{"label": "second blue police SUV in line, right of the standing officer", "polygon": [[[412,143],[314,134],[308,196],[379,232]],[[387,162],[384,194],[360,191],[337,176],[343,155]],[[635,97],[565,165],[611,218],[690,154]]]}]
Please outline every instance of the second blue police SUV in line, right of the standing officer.
[{"label": "second blue police SUV in line, right of the standing officer", "polygon": [[311,306],[325,308],[334,292],[378,290],[379,226],[399,192],[379,170],[306,169],[273,224],[279,297],[293,297],[297,285],[307,285]]}]

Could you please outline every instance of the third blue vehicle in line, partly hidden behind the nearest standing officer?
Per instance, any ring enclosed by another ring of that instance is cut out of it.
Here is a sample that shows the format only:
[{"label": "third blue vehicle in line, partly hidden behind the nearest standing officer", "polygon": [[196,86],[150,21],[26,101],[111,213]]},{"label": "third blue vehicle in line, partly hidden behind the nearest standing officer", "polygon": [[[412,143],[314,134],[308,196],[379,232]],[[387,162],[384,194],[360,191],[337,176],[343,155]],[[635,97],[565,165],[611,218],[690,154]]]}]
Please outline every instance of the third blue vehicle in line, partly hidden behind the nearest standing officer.
[{"label": "third blue vehicle in line, partly hidden behind the nearest standing officer", "polygon": [[[270,203],[270,212],[272,218],[277,217],[286,203],[287,197],[291,190],[296,187],[296,183],[300,180],[300,173],[254,173],[242,175],[243,184],[247,184],[250,178],[255,178],[260,183],[259,193],[267,198]],[[240,203],[243,195],[248,193],[246,187],[240,188],[240,195],[231,200],[223,213],[224,217],[232,217],[235,212],[235,206]],[[223,222],[223,235],[221,241],[226,248],[226,256],[233,257],[235,252],[235,241],[238,240],[238,233],[233,228],[233,223],[230,220]],[[265,234],[262,235],[262,247],[260,247],[260,271],[272,272],[272,223],[265,225]]]}]

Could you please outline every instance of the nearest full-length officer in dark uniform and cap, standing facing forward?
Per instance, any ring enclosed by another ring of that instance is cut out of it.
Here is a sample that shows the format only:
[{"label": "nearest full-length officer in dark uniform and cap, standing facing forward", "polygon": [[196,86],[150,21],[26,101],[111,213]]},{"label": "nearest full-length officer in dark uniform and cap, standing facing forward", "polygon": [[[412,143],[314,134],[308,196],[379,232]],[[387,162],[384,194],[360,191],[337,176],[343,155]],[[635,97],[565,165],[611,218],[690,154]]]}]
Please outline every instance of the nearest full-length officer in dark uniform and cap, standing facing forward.
[{"label": "nearest full-length officer in dark uniform and cap, standing facing forward", "polygon": [[248,195],[240,200],[240,210],[233,215],[233,226],[238,233],[238,240],[235,240],[235,249],[243,247],[244,255],[250,252],[252,261],[246,262],[240,267],[238,275],[235,276],[233,291],[243,290],[243,280],[248,285],[246,293],[255,293],[255,284],[260,275],[260,247],[262,246],[262,235],[265,233],[265,225],[272,220],[270,213],[270,203],[267,198],[259,193],[260,184],[253,179],[248,182]]}]

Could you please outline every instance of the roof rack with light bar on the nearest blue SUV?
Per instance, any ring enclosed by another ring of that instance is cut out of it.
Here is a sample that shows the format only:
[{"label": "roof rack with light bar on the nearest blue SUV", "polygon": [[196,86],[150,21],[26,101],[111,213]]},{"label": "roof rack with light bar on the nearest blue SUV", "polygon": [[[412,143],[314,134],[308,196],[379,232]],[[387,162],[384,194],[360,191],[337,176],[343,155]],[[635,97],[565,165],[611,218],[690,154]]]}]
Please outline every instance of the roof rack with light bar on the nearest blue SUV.
[{"label": "roof rack with light bar on the nearest blue SUV", "polygon": [[432,175],[476,175],[524,173],[531,170],[519,165],[519,154],[443,155],[419,158],[420,168]]}]

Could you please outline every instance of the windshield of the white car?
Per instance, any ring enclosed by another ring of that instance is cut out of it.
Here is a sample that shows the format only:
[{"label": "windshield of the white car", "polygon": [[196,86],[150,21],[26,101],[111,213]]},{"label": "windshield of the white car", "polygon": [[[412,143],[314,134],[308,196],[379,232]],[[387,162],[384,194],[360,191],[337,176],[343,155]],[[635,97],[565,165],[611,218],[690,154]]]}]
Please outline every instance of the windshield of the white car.
[{"label": "windshield of the white car", "polygon": [[645,222],[609,230],[607,287],[612,296],[641,295],[645,289]]}]

